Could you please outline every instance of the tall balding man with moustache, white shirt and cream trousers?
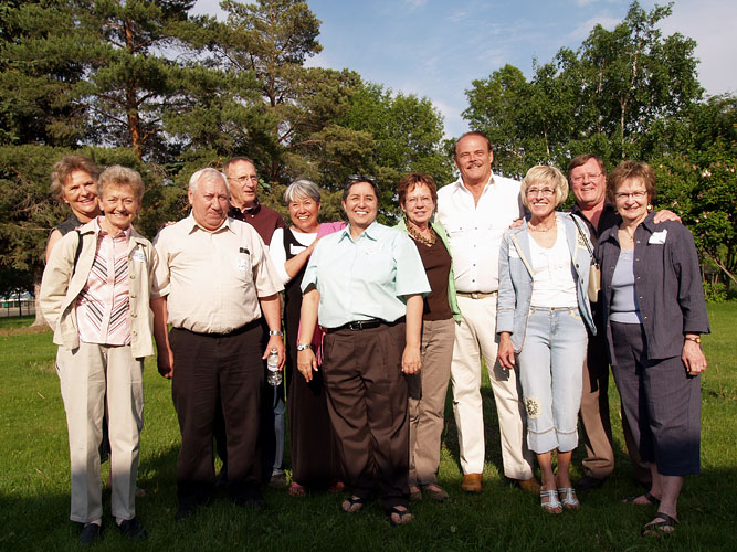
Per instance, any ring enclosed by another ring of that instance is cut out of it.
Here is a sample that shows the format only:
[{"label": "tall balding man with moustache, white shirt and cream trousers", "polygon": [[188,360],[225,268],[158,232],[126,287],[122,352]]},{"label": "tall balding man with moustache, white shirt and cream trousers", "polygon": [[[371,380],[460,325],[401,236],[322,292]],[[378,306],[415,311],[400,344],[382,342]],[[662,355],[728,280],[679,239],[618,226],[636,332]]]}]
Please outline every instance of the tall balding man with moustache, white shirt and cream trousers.
[{"label": "tall balding man with moustache, white shirt and cream trousers", "polygon": [[455,326],[451,364],[453,412],[459,429],[461,487],[482,491],[484,417],[481,357],[492,381],[502,436],[504,475],[519,487],[539,491],[533,454],[525,440],[525,413],[516,370],[496,363],[496,295],[499,245],[504,232],[523,215],[519,182],[492,174],[494,153],[482,132],[466,132],[453,160],[461,178],[438,190],[438,217],[448,230],[462,320]]}]

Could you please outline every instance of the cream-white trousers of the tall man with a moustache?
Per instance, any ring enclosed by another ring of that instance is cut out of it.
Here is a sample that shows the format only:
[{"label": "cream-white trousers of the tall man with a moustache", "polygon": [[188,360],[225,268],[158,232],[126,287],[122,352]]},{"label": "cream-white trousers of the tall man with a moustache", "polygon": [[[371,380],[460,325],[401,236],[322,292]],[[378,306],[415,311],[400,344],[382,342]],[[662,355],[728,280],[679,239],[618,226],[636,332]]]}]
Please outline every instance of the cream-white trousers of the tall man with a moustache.
[{"label": "cream-white trousers of the tall man with a moustache", "polygon": [[529,479],[534,455],[525,439],[525,411],[519,401],[522,390],[517,369],[504,370],[496,362],[496,296],[483,299],[459,296],[457,300],[463,319],[455,325],[451,383],[461,468],[464,474],[484,471],[483,355],[499,418],[504,475],[510,479]]}]

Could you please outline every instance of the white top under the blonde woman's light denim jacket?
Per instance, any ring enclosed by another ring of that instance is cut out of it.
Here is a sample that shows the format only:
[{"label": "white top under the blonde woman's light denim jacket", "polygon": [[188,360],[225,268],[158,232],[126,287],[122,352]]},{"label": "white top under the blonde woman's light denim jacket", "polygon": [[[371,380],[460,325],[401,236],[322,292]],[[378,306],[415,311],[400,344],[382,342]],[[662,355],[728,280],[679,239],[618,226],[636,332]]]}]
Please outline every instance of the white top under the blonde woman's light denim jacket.
[{"label": "white top under the blonde woman's light denim jacket", "polygon": [[556,243],[550,248],[540,246],[530,235],[529,251],[533,262],[534,307],[578,307],[576,280],[566,243],[566,229],[557,221]]}]

